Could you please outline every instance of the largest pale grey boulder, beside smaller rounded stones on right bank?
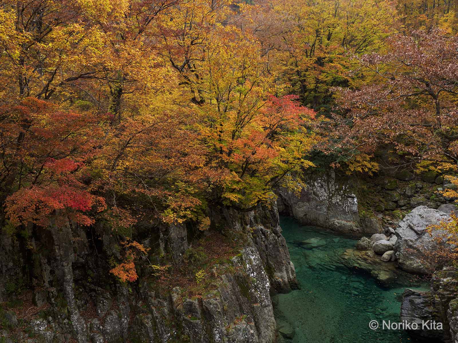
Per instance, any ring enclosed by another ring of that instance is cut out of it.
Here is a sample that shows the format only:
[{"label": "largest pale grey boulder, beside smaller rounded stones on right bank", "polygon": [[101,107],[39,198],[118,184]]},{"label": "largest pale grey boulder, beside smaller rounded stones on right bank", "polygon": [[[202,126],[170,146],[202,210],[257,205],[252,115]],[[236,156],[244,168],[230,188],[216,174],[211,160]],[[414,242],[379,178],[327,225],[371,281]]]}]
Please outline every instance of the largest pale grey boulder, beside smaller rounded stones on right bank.
[{"label": "largest pale grey boulder, beside smaller rounded stones on right bank", "polygon": [[428,274],[439,266],[427,258],[428,251],[436,249],[438,244],[453,249],[453,246],[441,242],[437,243],[434,238],[443,232],[432,231],[432,236],[426,232],[429,225],[438,224],[441,220],[450,217],[436,209],[419,206],[407,214],[396,229],[398,238],[394,244],[396,259],[403,270],[410,273]]}]

